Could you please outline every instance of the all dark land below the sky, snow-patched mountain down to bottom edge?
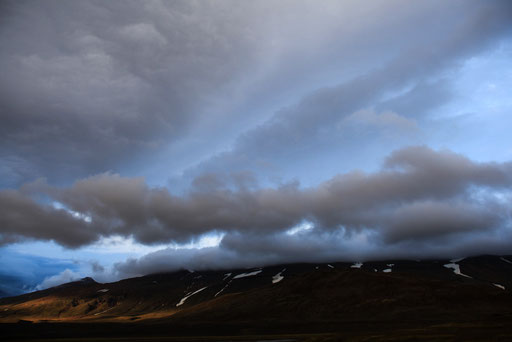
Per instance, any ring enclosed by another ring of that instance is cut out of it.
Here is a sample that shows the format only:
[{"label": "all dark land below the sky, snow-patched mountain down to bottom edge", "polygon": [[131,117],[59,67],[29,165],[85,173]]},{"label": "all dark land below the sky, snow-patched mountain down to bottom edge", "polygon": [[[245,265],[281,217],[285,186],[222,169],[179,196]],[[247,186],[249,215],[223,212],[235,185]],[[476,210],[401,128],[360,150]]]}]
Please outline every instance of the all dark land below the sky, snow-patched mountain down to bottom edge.
[{"label": "all dark land below the sky, snow-patched mountain down to bottom edge", "polygon": [[90,278],[0,299],[3,341],[512,341],[512,257]]}]

